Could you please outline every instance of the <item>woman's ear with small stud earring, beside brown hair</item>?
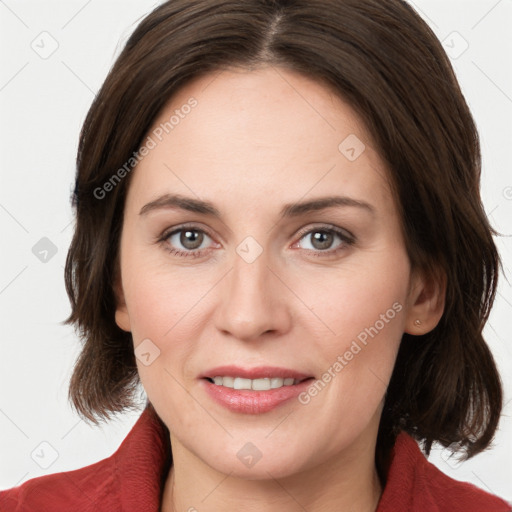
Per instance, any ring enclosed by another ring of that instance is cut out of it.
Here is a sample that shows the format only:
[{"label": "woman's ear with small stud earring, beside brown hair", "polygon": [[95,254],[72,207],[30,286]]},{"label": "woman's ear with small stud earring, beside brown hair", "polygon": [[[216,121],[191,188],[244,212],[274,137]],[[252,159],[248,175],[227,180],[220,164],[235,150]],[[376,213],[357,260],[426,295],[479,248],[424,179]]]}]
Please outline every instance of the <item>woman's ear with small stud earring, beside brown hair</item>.
[{"label": "woman's ear with small stud earring, beside brown hair", "polygon": [[405,332],[413,335],[427,334],[441,320],[446,298],[446,275],[415,271],[409,289],[409,308]]}]

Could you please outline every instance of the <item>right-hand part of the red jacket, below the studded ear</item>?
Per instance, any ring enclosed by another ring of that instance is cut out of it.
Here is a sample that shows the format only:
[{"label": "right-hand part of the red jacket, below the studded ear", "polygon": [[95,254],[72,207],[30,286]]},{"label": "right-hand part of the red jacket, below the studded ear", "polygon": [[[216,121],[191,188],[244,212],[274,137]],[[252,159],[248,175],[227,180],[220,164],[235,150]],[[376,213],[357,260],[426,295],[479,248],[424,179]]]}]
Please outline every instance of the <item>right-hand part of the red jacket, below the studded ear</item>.
[{"label": "right-hand part of the red jacket, below the studded ear", "polygon": [[401,433],[392,453],[378,512],[511,512],[512,506],[478,487],[445,475],[416,441]]}]

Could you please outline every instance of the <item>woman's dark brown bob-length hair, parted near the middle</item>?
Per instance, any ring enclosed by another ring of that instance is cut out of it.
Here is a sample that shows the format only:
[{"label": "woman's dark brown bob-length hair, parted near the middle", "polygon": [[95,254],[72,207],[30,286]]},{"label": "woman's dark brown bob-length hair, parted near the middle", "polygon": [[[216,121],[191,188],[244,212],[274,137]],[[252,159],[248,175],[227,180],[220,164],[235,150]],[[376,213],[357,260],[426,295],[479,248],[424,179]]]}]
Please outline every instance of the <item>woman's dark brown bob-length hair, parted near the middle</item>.
[{"label": "woman's dark brown bob-length hair, parted near the middle", "polygon": [[142,20],[80,135],[65,272],[67,322],[83,342],[72,405],[93,423],[136,407],[133,342],[115,323],[114,286],[130,171],[156,116],[192,79],[268,65],[322,83],[360,116],[389,168],[412,268],[446,286],[437,327],[403,335],[377,456],[400,430],[427,453],[439,442],[473,456],[502,408],[482,337],[501,263],[480,198],[475,123],[442,45],[403,0],[170,0]]}]

